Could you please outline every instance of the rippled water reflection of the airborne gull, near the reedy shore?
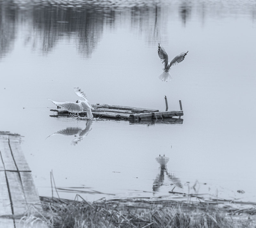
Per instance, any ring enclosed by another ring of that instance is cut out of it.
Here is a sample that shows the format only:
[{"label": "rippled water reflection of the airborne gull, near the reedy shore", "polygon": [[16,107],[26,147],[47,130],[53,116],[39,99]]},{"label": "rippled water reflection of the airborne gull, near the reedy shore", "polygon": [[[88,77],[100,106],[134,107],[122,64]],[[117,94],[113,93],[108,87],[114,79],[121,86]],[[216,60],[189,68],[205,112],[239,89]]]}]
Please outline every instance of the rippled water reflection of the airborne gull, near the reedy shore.
[{"label": "rippled water reflection of the airborne gull, near the reedy shore", "polygon": [[164,175],[166,174],[167,178],[172,182],[171,184],[168,183],[168,185],[174,185],[174,187],[179,187],[179,188],[183,188],[182,187],[182,184],[180,183],[180,179],[175,177],[173,174],[171,173],[168,173],[168,170],[167,170],[167,162],[170,160],[170,158],[168,157],[165,157],[164,156],[161,156],[159,154],[159,156],[156,158],[156,161],[159,163],[160,165],[160,173],[157,174],[156,176],[156,179],[154,180],[154,183],[153,183],[153,192],[158,192],[159,191],[159,188],[163,185],[167,185],[167,184],[164,184]]}]

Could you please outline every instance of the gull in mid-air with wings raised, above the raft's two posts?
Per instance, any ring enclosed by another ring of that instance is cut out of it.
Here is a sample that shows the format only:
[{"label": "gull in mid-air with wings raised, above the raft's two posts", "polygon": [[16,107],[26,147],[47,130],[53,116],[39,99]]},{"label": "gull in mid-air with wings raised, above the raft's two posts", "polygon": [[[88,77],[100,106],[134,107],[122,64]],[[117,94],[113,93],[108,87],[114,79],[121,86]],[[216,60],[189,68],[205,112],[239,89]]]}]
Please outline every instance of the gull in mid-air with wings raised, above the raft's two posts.
[{"label": "gull in mid-air with wings raised, above the raft's two posts", "polygon": [[164,48],[160,44],[158,44],[158,56],[162,60],[162,63],[164,63],[164,69],[163,69],[164,72],[160,74],[158,78],[165,82],[171,81],[172,77],[169,73],[169,71],[171,70],[171,67],[183,61],[187,53],[188,51],[180,53],[180,55],[177,55],[176,57],[174,57],[173,60],[169,63],[167,52],[164,50]]}]

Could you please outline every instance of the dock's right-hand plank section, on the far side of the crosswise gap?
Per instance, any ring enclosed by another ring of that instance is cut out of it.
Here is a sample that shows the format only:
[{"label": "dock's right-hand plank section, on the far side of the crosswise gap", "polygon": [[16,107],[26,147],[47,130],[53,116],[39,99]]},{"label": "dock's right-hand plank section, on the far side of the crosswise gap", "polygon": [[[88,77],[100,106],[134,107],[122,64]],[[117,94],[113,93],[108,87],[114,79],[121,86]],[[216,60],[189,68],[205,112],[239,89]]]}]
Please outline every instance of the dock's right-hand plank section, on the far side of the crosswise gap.
[{"label": "dock's right-hand plank section, on the far side of the crosswise gap", "polygon": [[24,153],[21,150],[20,146],[20,137],[18,136],[9,136],[10,147],[12,150],[13,159],[18,167],[19,171],[30,171],[28,163],[24,156]]}]

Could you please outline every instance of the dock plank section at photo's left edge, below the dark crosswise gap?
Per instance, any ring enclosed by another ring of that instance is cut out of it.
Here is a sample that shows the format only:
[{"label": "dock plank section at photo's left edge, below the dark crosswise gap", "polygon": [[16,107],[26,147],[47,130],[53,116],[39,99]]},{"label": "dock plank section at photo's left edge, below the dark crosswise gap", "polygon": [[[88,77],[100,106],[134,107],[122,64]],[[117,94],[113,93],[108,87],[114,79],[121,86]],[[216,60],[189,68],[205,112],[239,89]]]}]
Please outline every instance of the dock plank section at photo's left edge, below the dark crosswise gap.
[{"label": "dock plank section at photo's left edge, below the dark crosswise gap", "polygon": [[[8,193],[5,172],[0,171],[0,216],[12,215],[11,201]],[[0,222],[0,227],[1,222]]]}]

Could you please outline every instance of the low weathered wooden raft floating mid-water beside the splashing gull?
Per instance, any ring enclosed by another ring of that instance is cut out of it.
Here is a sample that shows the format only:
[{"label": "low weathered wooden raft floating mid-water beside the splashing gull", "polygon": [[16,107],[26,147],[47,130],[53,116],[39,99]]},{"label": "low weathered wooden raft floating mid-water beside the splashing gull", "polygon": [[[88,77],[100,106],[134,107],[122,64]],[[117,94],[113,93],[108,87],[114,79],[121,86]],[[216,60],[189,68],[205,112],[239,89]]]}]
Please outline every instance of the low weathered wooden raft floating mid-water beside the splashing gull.
[{"label": "low weathered wooden raft floating mid-water beside the splashing gull", "polygon": [[[182,116],[183,110],[179,111],[163,111],[159,112],[157,109],[127,107],[127,106],[116,106],[108,104],[96,104],[92,105],[94,110],[92,114],[95,117],[106,118],[106,119],[117,119],[117,120],[129,120],[133,122],[140,122],[145,120],[157,120],[164,118],[172,118],[173,116]],[[62,117],[71,116],[67,110],[61,108],[51,109],[50,111],[57,112],[57,115],[50,115],[51,117]],[[86,111],[79,113],[79,116],[86,116]],[[182,120],[183,121],[183,120]],[[179,122],[179,121],[177,121]]]}]

